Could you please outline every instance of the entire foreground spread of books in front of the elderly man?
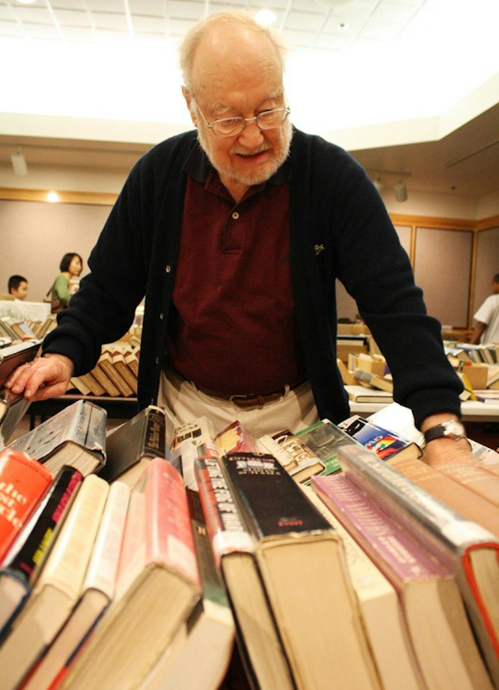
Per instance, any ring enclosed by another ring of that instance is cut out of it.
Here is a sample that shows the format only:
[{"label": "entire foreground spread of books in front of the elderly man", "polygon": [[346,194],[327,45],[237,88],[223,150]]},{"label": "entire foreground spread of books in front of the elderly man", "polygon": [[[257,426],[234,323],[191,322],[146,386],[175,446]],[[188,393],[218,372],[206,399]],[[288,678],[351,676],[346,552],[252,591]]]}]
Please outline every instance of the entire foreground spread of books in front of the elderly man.
[{"label": "entire foreground spread of books in front of the elderly man", "polygon": [[80,400],[14,440],[2,689],[215,689],[234,639],[245,687],[498,687],[499,455],[436,469],[376,415],[167,444],[160,408],[106,435]]}]

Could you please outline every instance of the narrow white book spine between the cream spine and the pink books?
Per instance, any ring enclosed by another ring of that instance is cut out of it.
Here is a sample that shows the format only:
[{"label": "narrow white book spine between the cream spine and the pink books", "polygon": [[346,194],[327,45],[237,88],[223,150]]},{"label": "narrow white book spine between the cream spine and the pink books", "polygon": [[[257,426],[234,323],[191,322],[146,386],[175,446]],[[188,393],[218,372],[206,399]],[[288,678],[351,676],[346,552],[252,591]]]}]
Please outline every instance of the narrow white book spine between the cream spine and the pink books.
[{"label": "narrow white book spine between the cream spine and the pink books", "polygon": [[110,486],[83,589],[99,589],[108,600],[114,596],[121,542],[130,501],[130,488],[123,482]]}]

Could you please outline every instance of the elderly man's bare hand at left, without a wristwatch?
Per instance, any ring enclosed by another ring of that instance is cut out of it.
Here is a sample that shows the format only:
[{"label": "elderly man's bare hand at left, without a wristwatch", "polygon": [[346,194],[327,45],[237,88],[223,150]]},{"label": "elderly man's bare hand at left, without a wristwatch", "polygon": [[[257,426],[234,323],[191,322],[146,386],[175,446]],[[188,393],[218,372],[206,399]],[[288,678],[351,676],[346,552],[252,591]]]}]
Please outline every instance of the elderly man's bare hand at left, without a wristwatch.
[{"label": "elderly man's bare hand at left, without a wristwatch", "polygon": [[21,364],[12,372],[5,387],[34,402],[64,395],[73,373],[71,359],[64,355],[44,355]]}]

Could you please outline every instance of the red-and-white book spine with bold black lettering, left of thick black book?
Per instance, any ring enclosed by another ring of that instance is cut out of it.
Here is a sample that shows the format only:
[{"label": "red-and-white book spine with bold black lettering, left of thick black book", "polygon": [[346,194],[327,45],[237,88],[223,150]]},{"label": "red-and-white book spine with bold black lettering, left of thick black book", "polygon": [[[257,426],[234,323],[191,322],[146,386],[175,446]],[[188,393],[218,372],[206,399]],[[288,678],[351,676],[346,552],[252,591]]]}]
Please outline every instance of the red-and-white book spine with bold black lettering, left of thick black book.
[{"label": "red-and-white book spine with bold black lettering, left of thick black book", "polygon": [[253,553],[253,539],[245,528],[218,457],[198,456],[194,475],[217,565],[227,553]]}]

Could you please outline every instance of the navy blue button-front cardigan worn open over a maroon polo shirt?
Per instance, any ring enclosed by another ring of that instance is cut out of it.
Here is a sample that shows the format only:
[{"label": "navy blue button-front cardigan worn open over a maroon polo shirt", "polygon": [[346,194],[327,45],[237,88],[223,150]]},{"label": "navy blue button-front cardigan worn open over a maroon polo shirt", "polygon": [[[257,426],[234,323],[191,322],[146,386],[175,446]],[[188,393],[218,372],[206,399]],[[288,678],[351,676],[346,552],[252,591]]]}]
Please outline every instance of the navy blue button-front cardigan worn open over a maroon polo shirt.
[{"label": "navy blue button-front cardigan worn open over a maroon polo shirt", "polygon": [[[154,404],[167,353],[185,172],[196,132],[163,141],[134,166],[114,204],[70,308],[43,344],[90,371],[101,344],[130,327],[145,295],[139,408]],[[290,152],[290,266],[309,379],[321,418],[349,415],[336,367],[335,279],[356,299],[394,377],[394,399],[416,424],[460,413],[460,380],[442,350],[440,324],[426,314],[407,254],[363,168],[343,149],[294,130]],[[203,228],[200,228],[202,242]],[[181,277],[179,277],[181,279]],[[222,363],[221,363],[222,366]]]}]

